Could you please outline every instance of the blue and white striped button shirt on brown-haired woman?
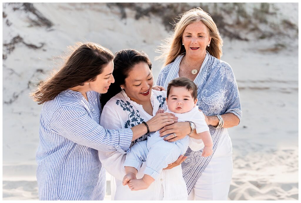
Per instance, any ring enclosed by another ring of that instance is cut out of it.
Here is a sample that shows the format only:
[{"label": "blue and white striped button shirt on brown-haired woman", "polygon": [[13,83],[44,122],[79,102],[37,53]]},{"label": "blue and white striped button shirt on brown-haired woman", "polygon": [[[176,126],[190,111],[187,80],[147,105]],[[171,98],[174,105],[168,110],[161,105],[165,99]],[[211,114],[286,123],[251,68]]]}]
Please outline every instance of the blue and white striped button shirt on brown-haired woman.
[{"label": "blue and white striped button shirt on brown-haired woman", "polygon": [[125,154],[133,133],[99,125],[99,97],[89,91],[87,101],[66,90],[44,103],[36,153],[39,200],[104,199],[106,177],[97,150]]}]

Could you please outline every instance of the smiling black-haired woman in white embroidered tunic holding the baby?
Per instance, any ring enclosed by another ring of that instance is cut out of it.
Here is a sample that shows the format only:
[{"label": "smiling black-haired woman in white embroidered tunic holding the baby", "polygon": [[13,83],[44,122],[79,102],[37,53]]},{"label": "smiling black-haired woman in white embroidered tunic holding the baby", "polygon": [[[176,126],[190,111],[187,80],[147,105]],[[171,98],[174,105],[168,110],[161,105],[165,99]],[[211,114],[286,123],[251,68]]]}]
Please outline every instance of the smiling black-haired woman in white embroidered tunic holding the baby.
[{"label": "smiling black-haired woman in white embroidered tunic holding the baby", "polygon": [[[129,128],[151,119],[159,108],[166,110],[166,91],[151,89],[154,80],[151,62],[146,55],[133,49],[121,50],[116,53],[114,65],[113,75],[116,82],[113,87],[110,87],[109,92],[101,97],[101,103],[106,103],[101,114],[101,125],[110,129]],[[178,122],[177,125],[178,127],[171,129],[176,132],[177,139],[184,138],[191,132],[189,122]],[[131,146],[145,140],[148,135],[145,134],[133,141]],[[170,135],[170,138],[174,136]],[[105,169],[113,176],[112,200],[187,200],[186,184],[179,165],[163,170],[160,177],[148,189],[131,191],[128,186],[122,185],[126,174],[123,169],[125,154],[120,154],[118,151],[99,151],[98,156]],[[137,178],[143,176],[144,168],[145,162]]]}]

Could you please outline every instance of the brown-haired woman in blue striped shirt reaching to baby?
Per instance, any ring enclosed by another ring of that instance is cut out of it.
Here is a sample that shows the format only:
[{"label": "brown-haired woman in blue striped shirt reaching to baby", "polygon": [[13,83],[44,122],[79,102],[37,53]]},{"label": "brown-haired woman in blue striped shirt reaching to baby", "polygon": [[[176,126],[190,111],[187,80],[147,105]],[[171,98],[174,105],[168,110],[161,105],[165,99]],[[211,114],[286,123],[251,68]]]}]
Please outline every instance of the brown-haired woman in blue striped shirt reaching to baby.
[{"label": "brown-haired woman in blue striped shirt reaching to baby", "polygon": [[132,128],[104,129],[99,125],[99,99],[114,82],[112,72],[110,50],[81,44],[32,94],[43,104],[36,153],[40,200],[103,200],[106,178],[97,150],[125,154],[148,130],[176,121],[172,114],[161,113]]}]

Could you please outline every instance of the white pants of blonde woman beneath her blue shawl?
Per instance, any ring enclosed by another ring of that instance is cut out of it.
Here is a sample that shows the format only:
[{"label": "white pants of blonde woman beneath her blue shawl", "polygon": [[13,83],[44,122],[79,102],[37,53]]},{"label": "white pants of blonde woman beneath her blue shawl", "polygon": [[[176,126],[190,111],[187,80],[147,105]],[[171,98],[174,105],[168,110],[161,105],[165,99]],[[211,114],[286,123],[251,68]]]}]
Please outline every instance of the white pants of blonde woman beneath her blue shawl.
[{"label": "white pants of blonde woman beneath her blue shawl", "polygon": [[197,179],[188,200],[228,200],[233,172],[232,143],[223,135],[207,167]]}]

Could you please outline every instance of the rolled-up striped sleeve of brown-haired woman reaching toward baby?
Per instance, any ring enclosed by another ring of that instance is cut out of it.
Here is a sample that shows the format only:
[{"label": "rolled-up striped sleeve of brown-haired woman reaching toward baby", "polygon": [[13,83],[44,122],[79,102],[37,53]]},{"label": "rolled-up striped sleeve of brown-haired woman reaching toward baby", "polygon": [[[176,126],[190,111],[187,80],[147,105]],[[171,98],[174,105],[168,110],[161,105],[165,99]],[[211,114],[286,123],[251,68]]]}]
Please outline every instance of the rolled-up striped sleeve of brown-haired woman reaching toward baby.
[{"label": "rolled-up striped sleeve of brown-haired woman reaching toward baby", "polygon": [[77,144],[99,151],[129,150],[133,132],[131,129],[108,130],[95,122],[88,112],[70,106],[57,109],[49,122],[52,132]]}]

